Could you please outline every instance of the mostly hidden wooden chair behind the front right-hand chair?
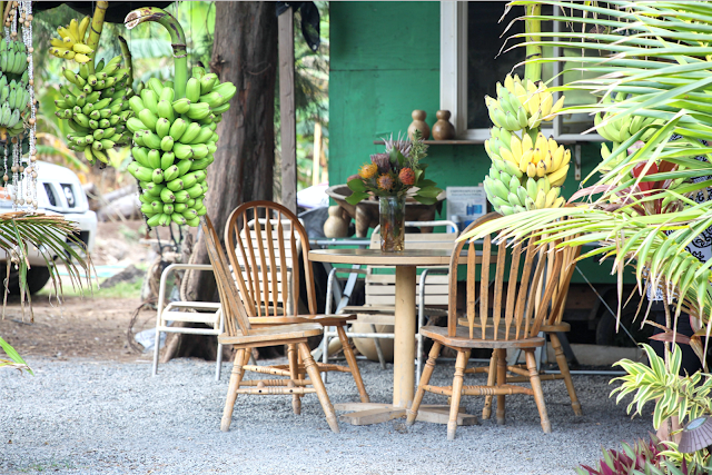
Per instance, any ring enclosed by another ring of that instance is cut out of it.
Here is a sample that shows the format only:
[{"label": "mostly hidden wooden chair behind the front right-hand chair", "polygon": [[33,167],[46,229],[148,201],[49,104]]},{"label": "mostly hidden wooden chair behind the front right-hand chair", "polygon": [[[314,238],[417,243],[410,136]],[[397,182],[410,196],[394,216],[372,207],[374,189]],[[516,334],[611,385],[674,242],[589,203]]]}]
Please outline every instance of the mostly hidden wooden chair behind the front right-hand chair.
[{"label": "mostly hidden wooden chair behind the front right-hand chair", "polygon": [[[550,250],[553,249],[553,244],[550,245]],[[564,349],[562,347],[561,340],[558,338],[558,333],[568,333],[571,331],[571,325],[566,321],[563,321],[564,316],[564,307],[566,304],[566,297],[568,296],[568,286],[571,284],[571,278],[573,276],[574,270],[576,269],[576,258],[581,254],[581,246],[575,247],[565,247],[556,253],[547,253],[547,269],[546,271],[551,274],[553,265],[554,265],[554,256],[560,255],[562,259],[562,271],[560,273],[558,280],[554,279],[550,283],[550,285],[554,286],[554,294],[552,296],[553,307],[552,311],[548,314],[548,317],[542,323],[540,327],[540,331],[543,331],[548,336],[550,342],[552,344],[552,348],[554,349],[554,356],[556,358],[556,365],[558,366],[560,374],[540,374],[541,380],[556,380],[563,379],[566,386],[566,390],[568,393],[568,397],[571,399],[571,407],[574,410],[574,415],[581,416],[581,403],[578,403],[578,398],[576,396],[576,389],[574,388],[574,383],[571,378],[571,372],[568,369],[568,363],[566,362],[566,355],[564,355]],[[459,318],[459,325],[467,326],[466,318]],[[515,355],[516,357],[516,355]],[[507,383],[525,383],[528,380],[527,376],[522,376],[512,370],[512,368],[523,368],[524,365],[510,365],[507,366],[507,372],[512,373],[512,375],[507,375]],[[465,373],[490,373],[490,368],[497,367],[497,354],[493,352],[492,360],[490,366],[487,367],[476,367],[476,368],[467,368]],[[482,409],[482,418],[487,419],[492,415],[492,396],[485,397],[485,406]]]}]

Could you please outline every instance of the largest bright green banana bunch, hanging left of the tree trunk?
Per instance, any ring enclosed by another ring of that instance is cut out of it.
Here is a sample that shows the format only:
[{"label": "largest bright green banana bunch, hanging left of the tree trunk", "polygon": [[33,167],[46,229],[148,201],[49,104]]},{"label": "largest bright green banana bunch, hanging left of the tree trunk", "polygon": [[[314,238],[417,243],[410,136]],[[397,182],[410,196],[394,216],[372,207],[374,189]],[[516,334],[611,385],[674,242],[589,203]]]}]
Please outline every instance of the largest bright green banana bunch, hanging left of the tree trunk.
[{"label": "largest bright green banana bunch, hanging left of the tree trunk", "polygon": [[234,95],[233,83],[219,85],[216,75],[194,68],[185,98],[176,99],[170,81],[151,78],[129,99],[136,117],[126,122],[135,144],[128,170],[139,180],[148,226],[199,225],[207,212],[202,201],[217,150],[215,130]]}]

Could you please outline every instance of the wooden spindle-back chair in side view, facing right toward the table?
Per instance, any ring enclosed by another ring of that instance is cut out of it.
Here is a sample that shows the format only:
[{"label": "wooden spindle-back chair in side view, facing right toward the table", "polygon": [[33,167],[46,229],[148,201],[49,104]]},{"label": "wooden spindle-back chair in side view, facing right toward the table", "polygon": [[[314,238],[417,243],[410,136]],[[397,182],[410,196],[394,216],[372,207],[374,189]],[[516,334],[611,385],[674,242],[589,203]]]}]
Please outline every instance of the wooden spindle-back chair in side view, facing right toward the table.
[{"label": "wooden spindle-back chair in side view, facing right toward the table", "polygon": [[[312,357],[307,339],[323,334],[323,328],[316,323],[291,324],[291,325],[268,325],[254,328],[250,325],[248,314],[243,306],[235,279],[230,273],[227,257],[220,246],[218,235],[207,216],[200,218],[202,231],[206,237],[208,256],[215,271],[218,284],[220,304],[225,314],[226,331],[218,337],[222,345],[233,345],[237,348],[233,374],[227,390],[225,409],[220,429],[226,432],[233,422],[233,409],[238,394],[253,395],[304,395],[316,393],[326,415],[326,420],[335,433],[338,433],[338,423],[334,407],[326,393],[326,387],[319,376],[319,370]],[[270,367],[248,365],[249,350],[265,346],[288,345],[289,370],[277,370]],[[304,364],[303,367],[309,379],[300,378],[297,372],[297,355],[299,352]],[[288,379],[258,379],[243,382],[245,372],[271,374],[276,376],[287,376]],[[307,387],[312,385],[313,387]],[[240,387],[247,386],[247,387]]]}]

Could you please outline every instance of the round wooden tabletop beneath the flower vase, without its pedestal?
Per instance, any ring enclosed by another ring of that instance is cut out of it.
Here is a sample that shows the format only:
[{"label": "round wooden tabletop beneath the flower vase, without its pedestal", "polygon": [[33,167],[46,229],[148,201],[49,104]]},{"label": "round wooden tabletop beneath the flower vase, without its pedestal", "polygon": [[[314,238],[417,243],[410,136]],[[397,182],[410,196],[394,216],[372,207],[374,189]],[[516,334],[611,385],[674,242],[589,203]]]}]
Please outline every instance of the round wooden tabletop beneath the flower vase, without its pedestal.
[{"label": "round wooden tabletop beneath the flower vase, without its pedestal", "polygon": [[[399,253],[384,253],[380,249],[312,249],[309,260],[372,266],[447,266],[451,254],[449,249],[406,249]],[[466,253],[461,259],[466,259]]]}]

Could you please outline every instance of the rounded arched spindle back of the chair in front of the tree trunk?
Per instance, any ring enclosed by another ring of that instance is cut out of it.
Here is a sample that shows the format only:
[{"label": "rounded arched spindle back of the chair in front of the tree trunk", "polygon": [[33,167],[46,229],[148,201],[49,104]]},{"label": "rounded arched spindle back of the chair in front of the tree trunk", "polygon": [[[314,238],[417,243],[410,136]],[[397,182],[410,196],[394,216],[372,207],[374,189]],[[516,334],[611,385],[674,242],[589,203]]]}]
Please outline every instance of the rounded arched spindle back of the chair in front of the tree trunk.
[{"label": "rounded arched spindle back of the chair in front of the tree trunk", "polygon": [[[249,316],[299,313],[300,285],[306,286],[309,314],[316,315],[309,238],[289,209],[271,201],[239,206],[228,218],[225,245]],[[299,281],[299,259],[304,283]]]}]

